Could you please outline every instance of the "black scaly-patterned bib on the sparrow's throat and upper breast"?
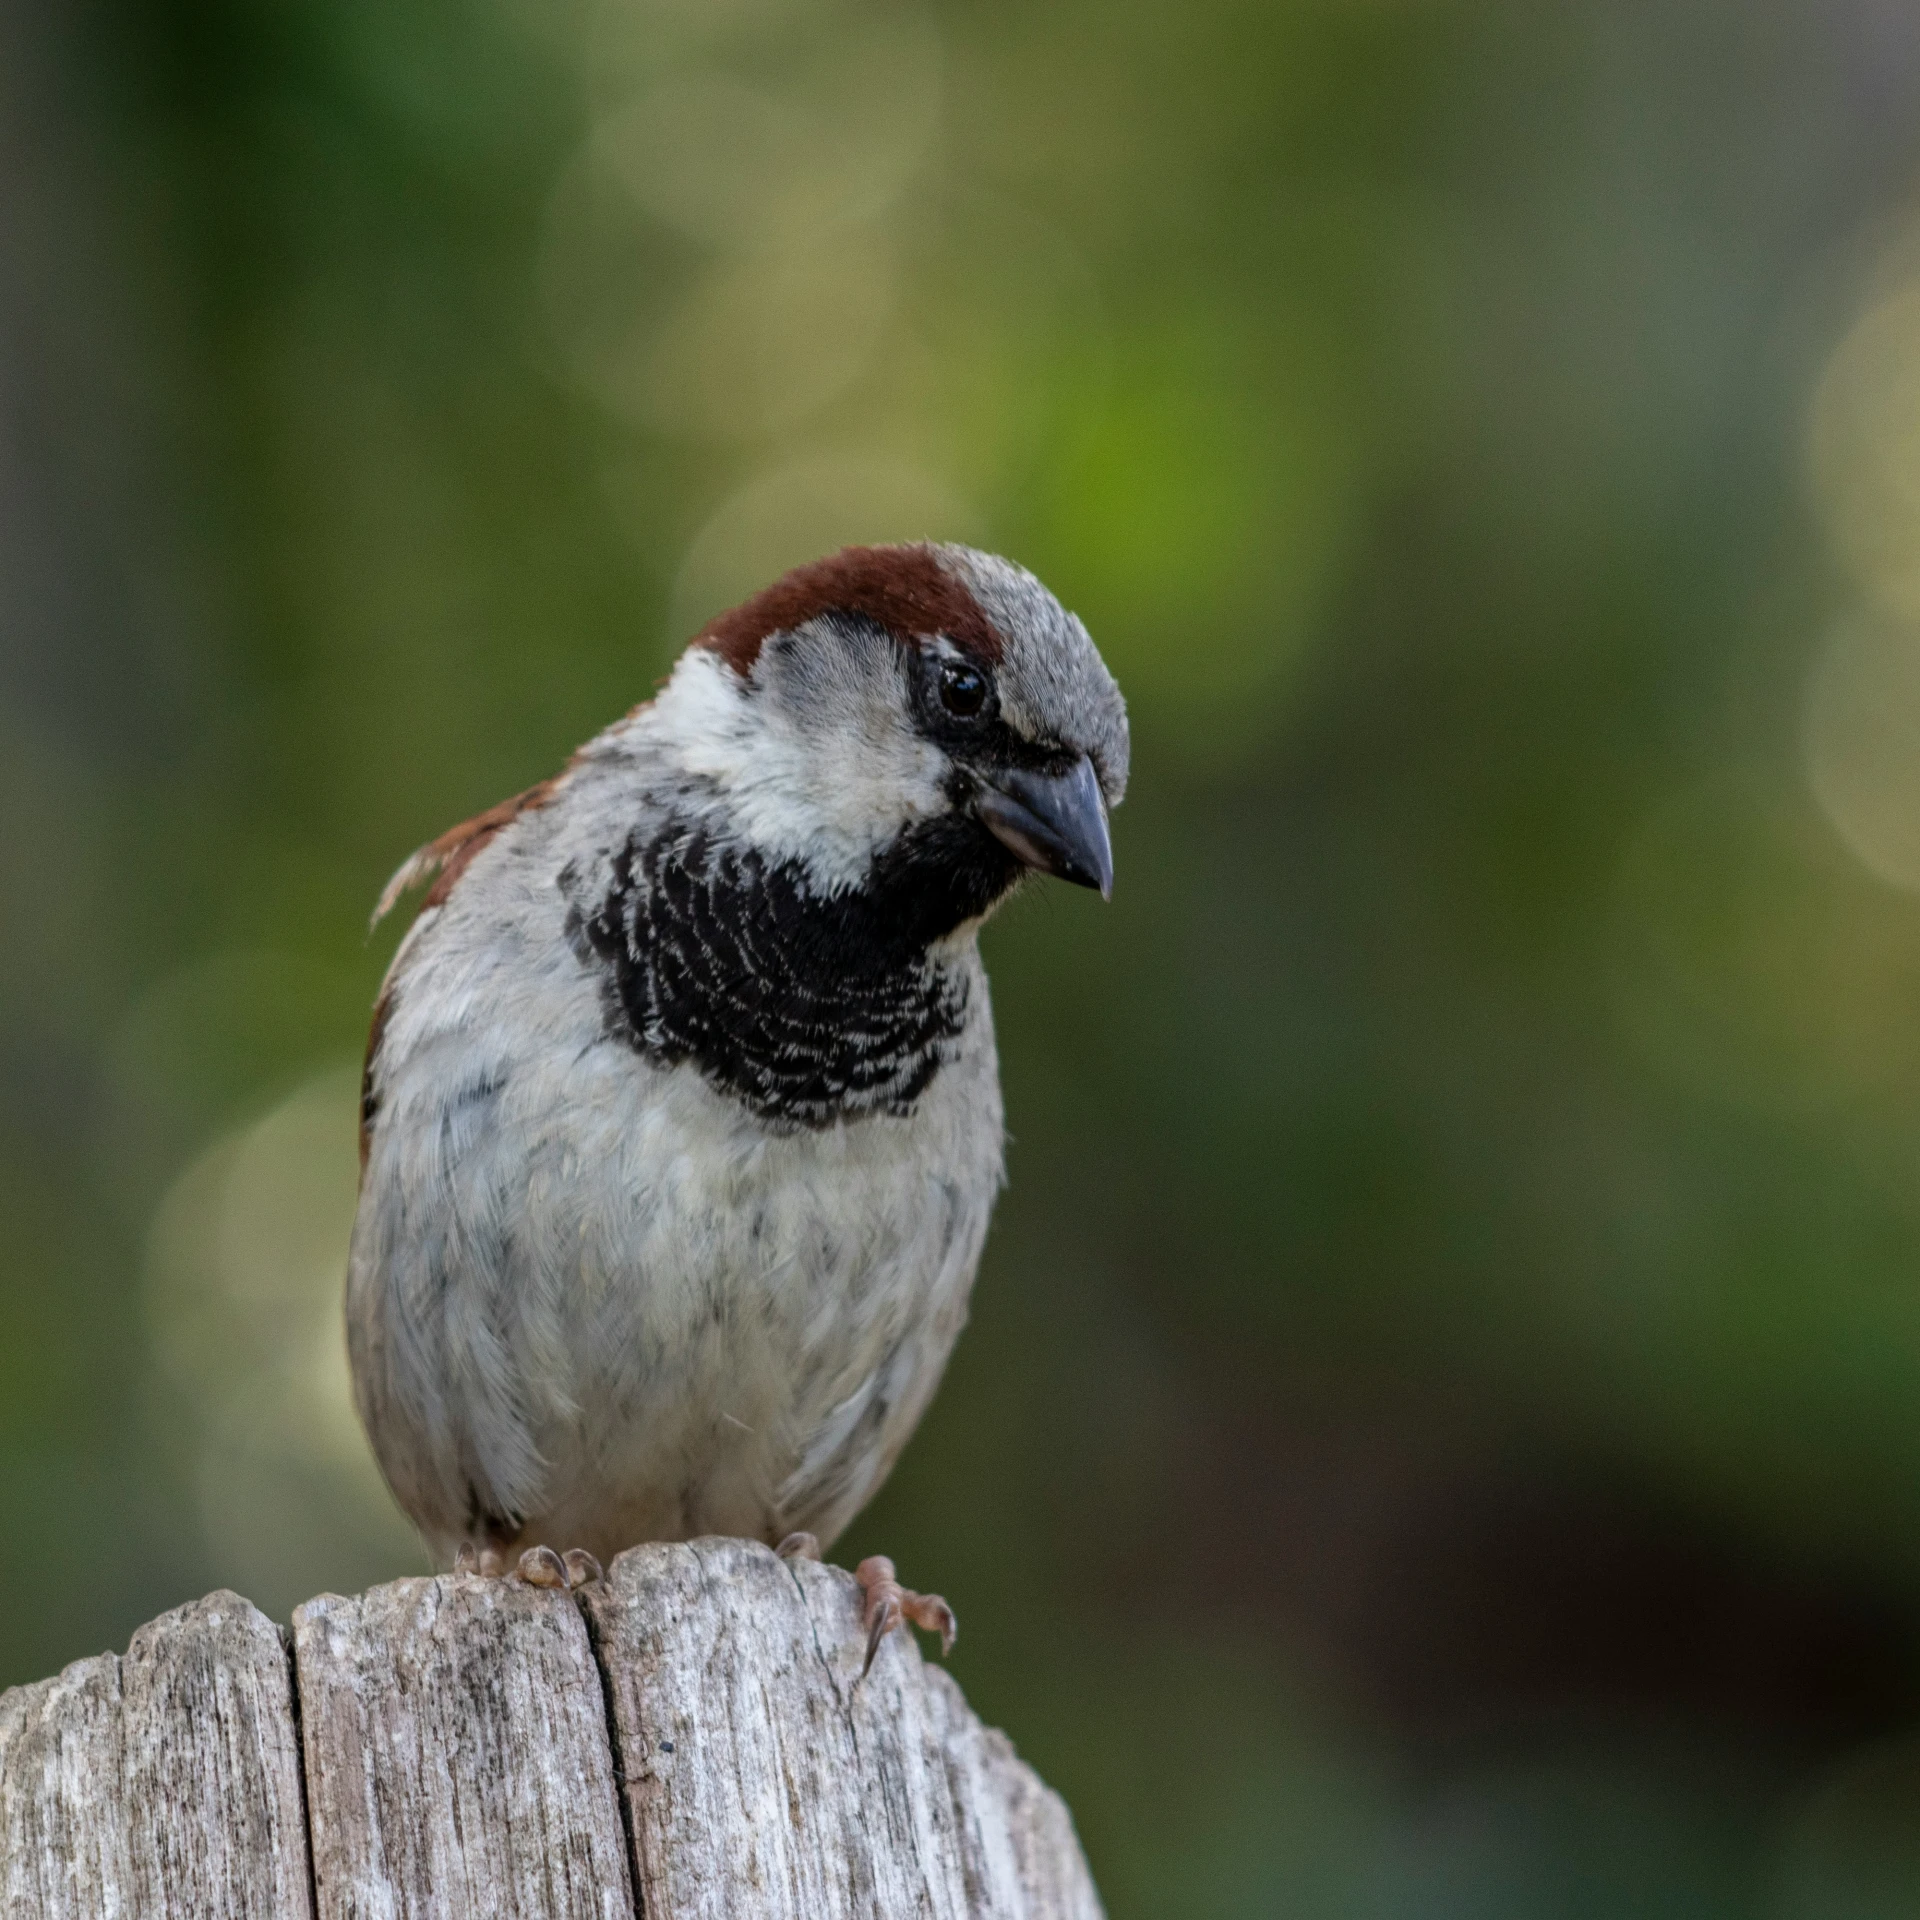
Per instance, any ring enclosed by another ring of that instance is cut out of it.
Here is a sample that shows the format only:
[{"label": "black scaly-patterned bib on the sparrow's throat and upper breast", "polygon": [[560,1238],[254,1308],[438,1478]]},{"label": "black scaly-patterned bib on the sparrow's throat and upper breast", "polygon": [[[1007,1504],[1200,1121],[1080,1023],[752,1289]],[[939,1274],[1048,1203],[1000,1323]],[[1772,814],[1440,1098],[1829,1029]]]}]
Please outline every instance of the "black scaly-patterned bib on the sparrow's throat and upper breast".
[{"label": "black scaly-patterned bib on the sparrow's throat and upper breast", "polygon": [[574,868],[561,889],[611,1037],[660,1066],[691,1062],[764,1121],[831,1127],[908,1114],[954,1056],[968,973],[929,947],[1018,877],[979,822],[948,814],[845,893],[685,822],[630,835],[597,899]]}]

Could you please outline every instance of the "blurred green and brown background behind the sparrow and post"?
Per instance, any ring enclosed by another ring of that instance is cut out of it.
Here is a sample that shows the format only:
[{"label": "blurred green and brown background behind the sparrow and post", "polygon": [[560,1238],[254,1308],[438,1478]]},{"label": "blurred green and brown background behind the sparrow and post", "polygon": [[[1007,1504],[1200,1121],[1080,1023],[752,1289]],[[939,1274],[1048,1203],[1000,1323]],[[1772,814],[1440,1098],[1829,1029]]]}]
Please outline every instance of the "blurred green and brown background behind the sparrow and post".
[{"label": "blurred green and brown background behind the sparrow and post", "polygon": [[856,538],[1125,685],[841,1555],[1127,1916],[1920,1912],[1920,13],[0,0],[0,1682],[419,1567],[392,868]]}]

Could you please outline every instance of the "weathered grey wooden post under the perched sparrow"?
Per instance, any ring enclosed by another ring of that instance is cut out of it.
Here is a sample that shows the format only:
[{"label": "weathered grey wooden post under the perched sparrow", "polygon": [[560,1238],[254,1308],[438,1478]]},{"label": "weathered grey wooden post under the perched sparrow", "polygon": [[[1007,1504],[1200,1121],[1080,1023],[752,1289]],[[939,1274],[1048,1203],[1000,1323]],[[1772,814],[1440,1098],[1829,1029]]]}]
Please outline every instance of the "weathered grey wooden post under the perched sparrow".
[{"label": "weathered grey wooden post under the perched sparrow", "polygon": [[745,1540],[580,1596],[234,1594],[0,1695],[0,1893],[36,1916],[1096,1920],[1060,1797],[852,1580]]}]

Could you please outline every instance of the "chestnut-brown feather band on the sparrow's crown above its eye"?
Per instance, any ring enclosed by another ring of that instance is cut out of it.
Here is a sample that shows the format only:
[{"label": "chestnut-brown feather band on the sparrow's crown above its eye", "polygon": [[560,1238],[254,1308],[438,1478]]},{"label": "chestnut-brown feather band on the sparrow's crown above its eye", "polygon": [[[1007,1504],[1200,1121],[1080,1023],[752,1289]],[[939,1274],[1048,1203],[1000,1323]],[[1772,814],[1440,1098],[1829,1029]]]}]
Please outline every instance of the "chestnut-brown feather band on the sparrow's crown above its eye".
[{"label": "chestnut-brown feather band on the sparrow's crown above its eye", "polygon": [[710,647],[733,672],[751,674],[768,634],[787,634],[824,612],[862,614],[902,641],[945,634],[987,666],[1000,659],[1000,636],[979,601],[924,543],[843,547],[810,566],[795,566],[732,612],[708,620],[693,645]]}]

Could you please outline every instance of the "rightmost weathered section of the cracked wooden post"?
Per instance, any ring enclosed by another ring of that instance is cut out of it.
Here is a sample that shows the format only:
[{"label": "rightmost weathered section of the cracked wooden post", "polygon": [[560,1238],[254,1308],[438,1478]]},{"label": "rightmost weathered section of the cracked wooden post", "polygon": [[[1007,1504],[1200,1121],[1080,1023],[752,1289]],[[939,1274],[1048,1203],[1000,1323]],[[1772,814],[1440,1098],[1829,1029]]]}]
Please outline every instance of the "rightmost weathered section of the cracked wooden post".
[{"label": "rightmost weathered section of the cracked wooden post", "polygon": [[647,1920],[1098,1920],[1060,1797],[852,1578],[747,1540],[622,1553],[584,1596]]}]

